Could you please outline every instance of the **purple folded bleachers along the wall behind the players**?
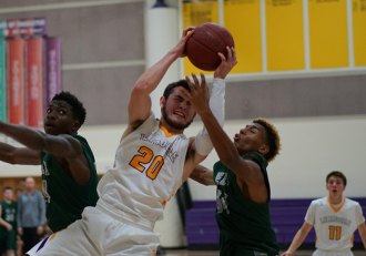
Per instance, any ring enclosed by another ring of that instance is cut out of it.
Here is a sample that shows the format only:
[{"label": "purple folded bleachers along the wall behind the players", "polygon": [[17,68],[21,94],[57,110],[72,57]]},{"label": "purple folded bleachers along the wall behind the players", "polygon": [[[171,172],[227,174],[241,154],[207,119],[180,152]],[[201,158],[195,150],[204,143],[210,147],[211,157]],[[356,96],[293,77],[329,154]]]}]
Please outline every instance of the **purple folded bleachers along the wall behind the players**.
[{"label": "purple folded bleachers along the wall behind the players", "polygon": [[[354,198],[366,213],[366,197]],[[297,229],[304,223],[306,209],[311,198],[272,199],[271,216],[272,226],[276,233],[277,242],[282,249],[289,246]],[[210,249],[218,247],[218,228],[215,219],[216,202],[196,201],[185,212],[185,234],[187,247],[191,249]],[[362,248],[358,232],[355,232],[354,248]],[[314,248],[314,228],[307,235],[301,248]]]}]

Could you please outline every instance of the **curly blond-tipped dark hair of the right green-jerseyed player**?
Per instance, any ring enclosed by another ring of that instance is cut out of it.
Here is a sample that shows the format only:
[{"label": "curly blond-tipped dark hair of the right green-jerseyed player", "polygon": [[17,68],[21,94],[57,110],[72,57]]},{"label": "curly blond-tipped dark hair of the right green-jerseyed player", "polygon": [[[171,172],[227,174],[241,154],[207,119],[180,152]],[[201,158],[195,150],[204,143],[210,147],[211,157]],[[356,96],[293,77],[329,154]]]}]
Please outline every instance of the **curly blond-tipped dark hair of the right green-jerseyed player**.
[{"label": "curly blond-tipped dark hair of the right green-jerseyed player", "polygon": [[281,140],[277,132],[277,129],[264,119],[256,119],[253,123],[257,123],[264,127],[266,131],[266,143],[268,144],[270,151],[265,154],[265,157],[268,162],[273,161],[276,155],[278,155],[281,150]]}]

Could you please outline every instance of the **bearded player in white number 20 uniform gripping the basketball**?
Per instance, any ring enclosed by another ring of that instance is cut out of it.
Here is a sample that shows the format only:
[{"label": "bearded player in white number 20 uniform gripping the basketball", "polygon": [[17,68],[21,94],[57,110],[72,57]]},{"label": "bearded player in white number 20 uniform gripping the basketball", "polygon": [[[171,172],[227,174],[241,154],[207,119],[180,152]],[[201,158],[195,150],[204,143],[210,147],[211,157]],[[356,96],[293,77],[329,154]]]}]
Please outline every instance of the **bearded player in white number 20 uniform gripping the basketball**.
[{"label": "bearded player in white number 20 uniform gripping the basketball", "polygon": [[[170,84],[160,100],[162,117],[151,111],[150,94],[170,65],[184,57],[185,29],[179,43],[148,69],[132,89],[129,124],[115,153],[114,167],[101,178],[95,207],[88,207],[82,219],[55,233],[32,248],[29,255],[154,255],[159,236],[154,224],[162,218],[166,202],[187,180],[213,146],[203,127],[194,137],[183,134],[195,116],[190,86],[185,80]],[[236,64],[234,49],[227,48],[214,71],[210,106],[221,125],[224,122],[224,79]],[[205,83],[194,76],[196,86]]]}]

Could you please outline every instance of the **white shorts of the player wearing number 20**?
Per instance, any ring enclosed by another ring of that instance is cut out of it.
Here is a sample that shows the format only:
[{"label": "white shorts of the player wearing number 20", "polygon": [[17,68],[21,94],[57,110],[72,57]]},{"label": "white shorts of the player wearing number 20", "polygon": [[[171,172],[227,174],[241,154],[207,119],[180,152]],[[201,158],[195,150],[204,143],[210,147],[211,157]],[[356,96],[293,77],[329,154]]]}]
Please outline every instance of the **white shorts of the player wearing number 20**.
[{"label": "white shorts of the player wearing number 20", "polygon": [[98,207],[87,207],[82,219],[41,240],[29,256],[152,256],[159,236],[139,225],[115,219]]}]

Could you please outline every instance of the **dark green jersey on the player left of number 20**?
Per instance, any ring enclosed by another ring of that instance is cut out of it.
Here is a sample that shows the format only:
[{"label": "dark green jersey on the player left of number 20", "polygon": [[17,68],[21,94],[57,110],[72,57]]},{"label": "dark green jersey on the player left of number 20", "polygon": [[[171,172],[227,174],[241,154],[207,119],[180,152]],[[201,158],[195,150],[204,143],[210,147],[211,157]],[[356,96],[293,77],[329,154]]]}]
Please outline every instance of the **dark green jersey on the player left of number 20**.
[{"label": "dark green jersey on the player left of number 20", "polygon": [[81,218],[84,207],[95,206],[98,201],[94,155],[84,137],[73,137],[80,142],[90,167],[90,180],[84,185],[74,182],[51,154],[41,153],[45,216],[52,232],[63,229]]}]

